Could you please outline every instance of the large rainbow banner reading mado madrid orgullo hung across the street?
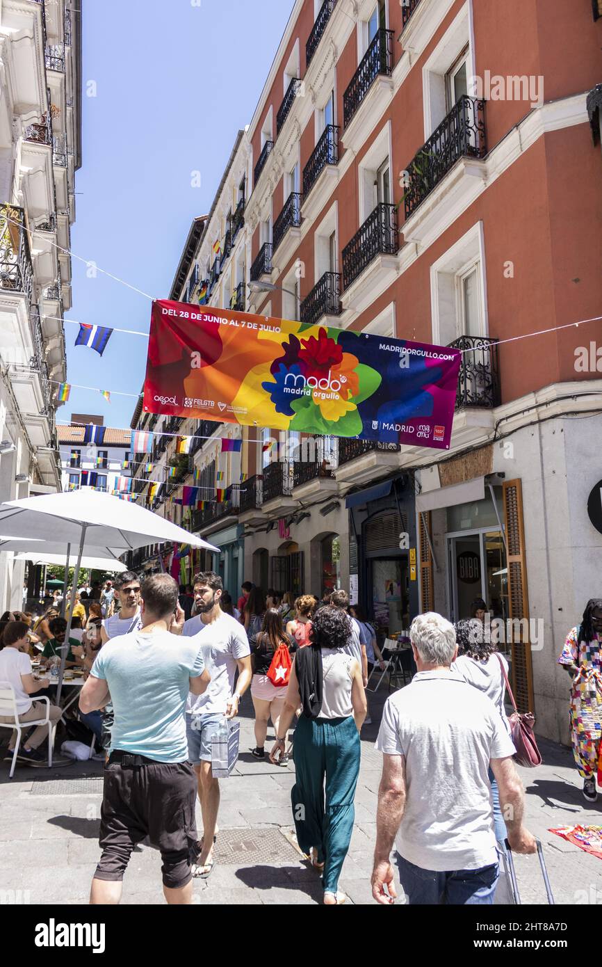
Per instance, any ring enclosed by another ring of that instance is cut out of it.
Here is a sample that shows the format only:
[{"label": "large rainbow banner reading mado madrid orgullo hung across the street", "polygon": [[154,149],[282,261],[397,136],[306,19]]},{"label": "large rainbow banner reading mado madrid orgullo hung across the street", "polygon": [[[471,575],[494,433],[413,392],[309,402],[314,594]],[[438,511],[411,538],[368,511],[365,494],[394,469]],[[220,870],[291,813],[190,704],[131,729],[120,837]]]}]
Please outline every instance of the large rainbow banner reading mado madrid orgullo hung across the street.
[{"label": "large rainbow banner reading mado madrid orgullo hung across the street", "polygon": [[443,346],[157,300],[144,410],[445,450],[460,362]]}]

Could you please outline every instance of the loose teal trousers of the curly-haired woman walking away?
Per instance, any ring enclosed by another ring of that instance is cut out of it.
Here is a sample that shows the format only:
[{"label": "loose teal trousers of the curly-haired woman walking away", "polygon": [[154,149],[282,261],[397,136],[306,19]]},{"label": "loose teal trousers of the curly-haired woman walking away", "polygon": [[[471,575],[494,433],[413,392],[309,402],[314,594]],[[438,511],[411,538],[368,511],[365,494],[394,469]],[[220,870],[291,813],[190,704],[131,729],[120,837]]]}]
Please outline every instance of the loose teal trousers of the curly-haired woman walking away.
[{"label": "loose teal trousers of the curly-haired woman walking away", "polygon": [[317,861],[326,864],[325,893],[336,893],[356,816],[359,734],[354,718],[301,716],[295,729],[295,772],[291,803],[299,845],[303,853],[316,849]]}]

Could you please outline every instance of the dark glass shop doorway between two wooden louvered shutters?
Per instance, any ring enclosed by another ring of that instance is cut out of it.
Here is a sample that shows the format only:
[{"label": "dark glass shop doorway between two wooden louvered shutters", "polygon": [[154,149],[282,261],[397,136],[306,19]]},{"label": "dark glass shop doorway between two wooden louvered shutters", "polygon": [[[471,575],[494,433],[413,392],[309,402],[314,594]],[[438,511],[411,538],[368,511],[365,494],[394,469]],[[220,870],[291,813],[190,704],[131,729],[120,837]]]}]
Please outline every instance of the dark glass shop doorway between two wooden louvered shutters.
[{"label": "dark glass shop doorway between two wooden louvered shutters", "polygon": [[486,601],[493,618],[506,621],[508,610],[508,569],[502,531],[483,528],[447,534],[447,573],[449,576],[449,619],[471,617],[471,602]]}]

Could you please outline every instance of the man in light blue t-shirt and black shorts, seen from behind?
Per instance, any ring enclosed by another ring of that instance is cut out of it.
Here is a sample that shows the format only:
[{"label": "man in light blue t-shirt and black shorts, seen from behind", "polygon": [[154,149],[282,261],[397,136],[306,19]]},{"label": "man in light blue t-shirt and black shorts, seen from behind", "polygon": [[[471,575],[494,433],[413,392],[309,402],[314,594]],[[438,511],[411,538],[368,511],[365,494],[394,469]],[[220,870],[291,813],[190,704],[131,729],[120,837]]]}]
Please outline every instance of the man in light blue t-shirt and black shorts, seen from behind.
[{"label": "man in light blue t-shirt and black shorts, seen from behind", "polygon": [[131,852],[147,835],[161,853],[167,902],[192,902],[196,777],[184,716],[188,692],[201,695],[210,676],[200,645],[170,633],[184,620],[173,577],[147,578],[141,597],[142,628],[102,646],[79,699],[81,711],[90,713],[106,704],[110,691],[115,711],[104,770],[102,856],[90,894],[95,904],[119,902]]}]

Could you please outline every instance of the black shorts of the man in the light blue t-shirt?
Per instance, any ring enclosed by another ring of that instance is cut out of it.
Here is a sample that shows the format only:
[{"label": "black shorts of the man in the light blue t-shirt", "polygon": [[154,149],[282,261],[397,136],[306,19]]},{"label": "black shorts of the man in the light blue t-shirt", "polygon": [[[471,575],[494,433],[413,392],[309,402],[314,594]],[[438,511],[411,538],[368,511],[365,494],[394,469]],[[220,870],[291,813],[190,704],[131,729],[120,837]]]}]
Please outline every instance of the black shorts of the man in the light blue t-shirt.
[{"label": "black shorts of the man in the light blue t-shirt", "polygon": [[186,887],[198,856],[196,791],[189,762],[108,762],[100,810],[102,856],[95,878],[123,880],[134,846],[149,836],[160,850],[164,886]]}]

